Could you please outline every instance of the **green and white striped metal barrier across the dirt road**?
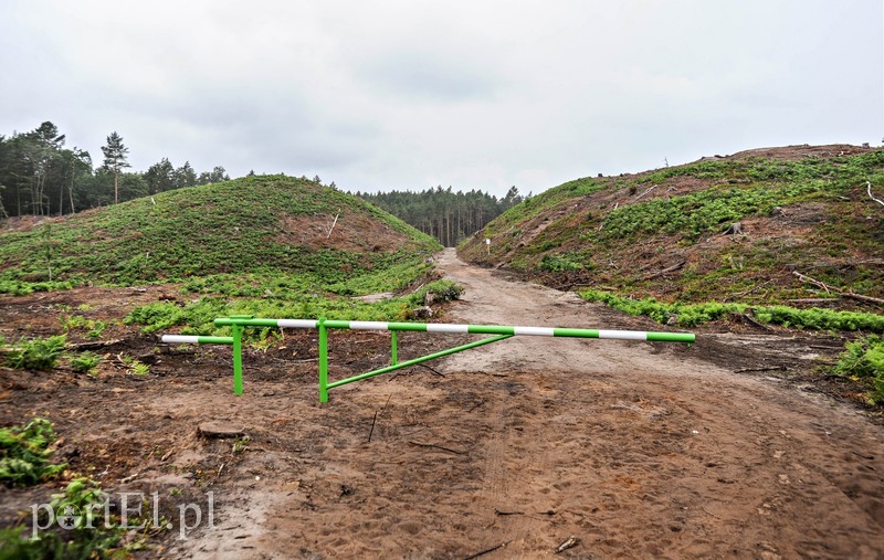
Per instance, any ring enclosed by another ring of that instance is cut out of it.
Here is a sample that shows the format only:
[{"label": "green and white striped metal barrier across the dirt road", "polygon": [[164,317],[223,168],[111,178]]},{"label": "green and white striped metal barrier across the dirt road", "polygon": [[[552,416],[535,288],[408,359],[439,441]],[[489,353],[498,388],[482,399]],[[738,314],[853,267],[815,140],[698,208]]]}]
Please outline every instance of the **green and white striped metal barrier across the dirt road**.
[{"label": "green and white striped metal barrier across the dirt road", "polygon": [[[328,319],[259,319],[251,316],[222,317],[214,320],[215,325],[229,326],[232,331],[230,337],[192,337],[180,335],[165,335],[164,342],[185,344],[217,344],[233,345],[233,392],[242,394],[242,332],[245,327],[278,327],[278,328],[315,328],[319,331],[319,402],[328,402],[328,390],[346,385],[355,381],[380,376],[402,368],[417,366],[428,360],[434,360],[471,348],[490,345],[514,336],[547,336],[567,338],[601,338],[617,340],[648,340],[657,342],[694,344],[696,337],[692,332],[648,332],[642,330],[604,330],[579,328],[550,328],[550,327],[506,327],[502,325],[454,325],[448,323],[386,323],[359,320],[328,320]],[[388,330],[390,331],[390,364],[354,376],[338,381],[328,381],[328,329],[351,330]],[[417,332],[456,332],[471,335],[495,335],[466,345],[456,346],[446,350],[422,356],[399,362],[399,339],[397,332],[410,330]]]}]

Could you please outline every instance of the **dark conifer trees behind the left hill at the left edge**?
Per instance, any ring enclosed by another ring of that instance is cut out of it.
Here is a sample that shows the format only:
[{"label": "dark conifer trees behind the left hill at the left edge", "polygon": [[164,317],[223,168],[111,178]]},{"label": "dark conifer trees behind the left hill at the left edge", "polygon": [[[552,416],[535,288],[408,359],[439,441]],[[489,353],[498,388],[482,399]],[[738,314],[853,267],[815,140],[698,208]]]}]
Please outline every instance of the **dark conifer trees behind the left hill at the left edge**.
[{"label": "dark conifer trees behind the left hill at the left edge", "polygon": [[60,215],[123,202],[171,189],[229,180],[223,167],[197,173],[189,162],[176,168],[162,158],[145,172],[129,172],[128,148],[113,133],[101,165],[50,121],[34,130],[0,135],[0,218]]}]

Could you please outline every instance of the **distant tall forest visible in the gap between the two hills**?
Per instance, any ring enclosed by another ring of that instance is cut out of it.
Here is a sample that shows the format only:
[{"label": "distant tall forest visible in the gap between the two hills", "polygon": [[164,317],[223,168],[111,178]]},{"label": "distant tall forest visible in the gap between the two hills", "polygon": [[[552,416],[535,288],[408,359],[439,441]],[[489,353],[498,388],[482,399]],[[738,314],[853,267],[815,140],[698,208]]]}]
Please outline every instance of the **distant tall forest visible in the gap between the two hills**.
[{"label": "distant tall forest visible in the gap between the two hills", "polygon": [[522,197],[515,187],[498,199],[475,189],[454,192],[451,187],[443,189],[441,186],[420,192],[357,192],[356,196],[434,236],[446,247],[456,245],[505,210],[530,197]]}]

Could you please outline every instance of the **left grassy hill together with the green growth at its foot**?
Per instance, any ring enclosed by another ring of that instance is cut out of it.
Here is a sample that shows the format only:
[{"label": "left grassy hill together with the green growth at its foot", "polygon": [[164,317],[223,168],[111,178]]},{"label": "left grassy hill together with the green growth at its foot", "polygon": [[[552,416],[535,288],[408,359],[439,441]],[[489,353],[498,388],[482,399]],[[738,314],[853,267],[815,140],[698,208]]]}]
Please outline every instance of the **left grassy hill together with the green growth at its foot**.
[{"label": "left grassy hill together with the green growth at its foot", "polygon": [[232,314],[394,318],[410,302],[348,296],[406,288],[429,272],[438,249],[347,193],[284,176],[248,177],[2,234],[0,292],[176,284],[194,300],[154,304],[127,320],[200,334],[214,331],[211,318]]}]

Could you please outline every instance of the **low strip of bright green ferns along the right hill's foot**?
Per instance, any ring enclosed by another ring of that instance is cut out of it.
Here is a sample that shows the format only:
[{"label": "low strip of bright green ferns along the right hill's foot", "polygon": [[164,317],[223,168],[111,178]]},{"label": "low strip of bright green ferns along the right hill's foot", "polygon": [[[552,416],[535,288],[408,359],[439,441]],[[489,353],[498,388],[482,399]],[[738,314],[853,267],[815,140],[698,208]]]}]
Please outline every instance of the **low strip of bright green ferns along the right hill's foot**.
[{"label": "low strip of bright green ferns along the right hill's foot", "polygon": [[596,289],[583,289],[580,296],[589,302],[601,302],[632,316],[643,315],[661,324],[674,320],[682,327],[696,327],[729,315],[751,311],[759,323],[782,325],[800,329],[884,332],[884,315],[831,309],[797,309],[785,305],[749,306],[717,302],[698,304],[666,304],[653,297],[632,299]]}]

